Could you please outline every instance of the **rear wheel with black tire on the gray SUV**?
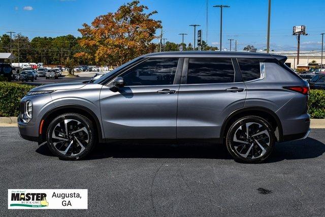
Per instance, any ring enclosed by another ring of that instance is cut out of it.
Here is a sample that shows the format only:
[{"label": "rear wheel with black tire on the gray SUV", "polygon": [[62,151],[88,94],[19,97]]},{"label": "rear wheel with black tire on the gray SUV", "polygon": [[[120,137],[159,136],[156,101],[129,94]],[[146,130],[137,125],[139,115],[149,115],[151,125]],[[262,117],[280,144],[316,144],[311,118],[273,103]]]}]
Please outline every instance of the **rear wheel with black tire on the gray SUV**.
[{"label": "rear wheel with black tire on the gray SUV", "polygon": [[270,156],[275,141],[273,128],[267,120],[258,116],[245,116],[234,121],[229,128],[226,147],[235,160],[260,163]]}]

